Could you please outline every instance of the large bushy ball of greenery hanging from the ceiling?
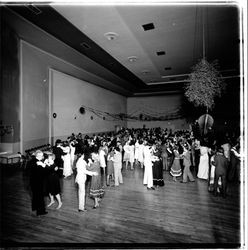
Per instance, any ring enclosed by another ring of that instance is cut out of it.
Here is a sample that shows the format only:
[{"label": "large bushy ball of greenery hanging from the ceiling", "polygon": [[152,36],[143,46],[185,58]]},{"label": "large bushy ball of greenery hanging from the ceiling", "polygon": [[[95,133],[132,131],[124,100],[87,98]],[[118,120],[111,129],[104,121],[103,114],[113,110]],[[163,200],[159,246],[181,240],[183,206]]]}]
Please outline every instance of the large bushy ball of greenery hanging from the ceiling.
[{"label": "large bushy ball of greenery hanging from the ceiling", "polygon": [[189,82],[185,85],[185,96],[196,107],[205,107],[208,113],[214,107],[216,97],[221,97],[226,84],[217,70],[218,63],[201,59],[189,75]]}]

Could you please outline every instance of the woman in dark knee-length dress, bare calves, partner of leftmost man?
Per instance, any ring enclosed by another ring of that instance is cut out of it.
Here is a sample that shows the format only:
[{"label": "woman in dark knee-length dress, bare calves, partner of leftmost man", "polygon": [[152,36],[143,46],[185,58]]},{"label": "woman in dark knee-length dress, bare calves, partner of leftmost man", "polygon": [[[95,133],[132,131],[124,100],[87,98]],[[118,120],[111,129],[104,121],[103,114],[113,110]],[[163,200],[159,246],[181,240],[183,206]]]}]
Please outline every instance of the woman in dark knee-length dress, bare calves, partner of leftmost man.
[{"label": "woman in dark knee-length dress, bare calves, partner of leftmost man", "polygon": [[60,209],[62,206],[61,197],[60,197],[60,180],[58,175],[58,167],[55,165],[55,155],[48,154],[47,159],[45,160],[46,170],[47,170],[47,180],[46,180],[46,193],[50,197],[50,203],[47,205],[50,207],[55,203],[54,197],[58,201],[58,206],[56,209]]}]

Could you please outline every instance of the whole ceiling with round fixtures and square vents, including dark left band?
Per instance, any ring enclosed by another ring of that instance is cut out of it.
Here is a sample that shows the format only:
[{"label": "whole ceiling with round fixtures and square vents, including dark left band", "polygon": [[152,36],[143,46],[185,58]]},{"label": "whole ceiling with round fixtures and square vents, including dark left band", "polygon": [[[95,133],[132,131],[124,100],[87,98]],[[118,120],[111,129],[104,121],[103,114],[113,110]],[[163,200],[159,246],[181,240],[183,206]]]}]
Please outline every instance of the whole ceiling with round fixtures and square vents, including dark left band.
[{"label": "whole ceiling with round fixtures and square vents, including dark left band", "polygon": [[218,60],[226,79],[239,77],[240,19],[235,5],[9,8],[104,67],[103,78],[114,74],[122,79],[112,83],[121,84],[127,96],[182,91],[192,66],[204,55],[210,62]]}]

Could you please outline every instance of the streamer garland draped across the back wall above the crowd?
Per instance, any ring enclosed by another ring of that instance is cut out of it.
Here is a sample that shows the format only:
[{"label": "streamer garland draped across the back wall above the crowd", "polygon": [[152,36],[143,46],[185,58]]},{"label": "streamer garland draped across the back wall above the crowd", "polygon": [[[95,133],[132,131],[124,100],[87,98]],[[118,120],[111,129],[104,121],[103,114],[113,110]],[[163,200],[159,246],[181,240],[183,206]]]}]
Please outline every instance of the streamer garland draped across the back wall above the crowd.
[{"label": "streamer garland draped across the back wall above the crowd", "polygon": [[154,112],[152,113],[151,110],[147,111],[144,109],[135,110],[132,114],[125,114],[125,113],[109,113],[105,111],[101,111],[98,109],[94,109],[91,107],[87,107],[82,105],[82,107],[95,114],[97,117],[104,119],[105,121],[168,121],[168,120],[175,120],[180,119],[183,117],[181,108],[177,108],[174,110],[167,111],[166,114],[162,112]]}]

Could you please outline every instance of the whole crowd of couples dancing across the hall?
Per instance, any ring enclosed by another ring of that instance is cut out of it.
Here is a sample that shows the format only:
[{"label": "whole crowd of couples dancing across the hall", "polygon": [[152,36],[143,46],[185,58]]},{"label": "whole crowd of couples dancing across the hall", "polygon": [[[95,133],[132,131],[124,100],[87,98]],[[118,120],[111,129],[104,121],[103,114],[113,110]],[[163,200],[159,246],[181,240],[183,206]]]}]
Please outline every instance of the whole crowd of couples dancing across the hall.
[{"label": "whole crowd of couples dancing across the hall", "polygon": [[121,129],[117,133],[93,136],[72,134],[66,141],[57,140],[49,152],[36,151],[30,162],[32,210],[37,215],[47,213],[47,207],[57,201],[62,206],[60,172],[67,179],[76,174],[78,211],[86,211],[85,186],[90,177],[89,196],[93,209],[100,206],[106,186],[123,184],[122,168],[144,169],[143,185],[147,190],[164,186],[164,171],[173,181],[208,182],[208,191],[226,197],[227,182],[239,182],[239,137],[225,135],[216,138],[196,138],[193,131],[161,128]]}]

